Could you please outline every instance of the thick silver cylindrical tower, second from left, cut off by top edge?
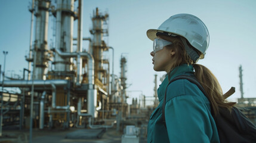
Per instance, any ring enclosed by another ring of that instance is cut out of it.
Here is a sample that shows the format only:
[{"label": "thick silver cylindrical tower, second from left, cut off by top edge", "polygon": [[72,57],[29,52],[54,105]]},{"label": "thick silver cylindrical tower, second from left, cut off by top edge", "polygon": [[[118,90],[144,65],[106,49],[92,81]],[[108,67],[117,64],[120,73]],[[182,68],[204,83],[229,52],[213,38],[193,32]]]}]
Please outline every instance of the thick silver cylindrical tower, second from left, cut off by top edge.
[{"label": "thick silver cylindrical tower, second from left, cut off by top edge", "polygon": [[[74,0],[57,1],[56,15],[56,45],[55,49],[61,52],[73,52],[73,23]],[[63,58],[58,54],[54,56],[54,79],[64,79],[73,70],[73,58]]]}]

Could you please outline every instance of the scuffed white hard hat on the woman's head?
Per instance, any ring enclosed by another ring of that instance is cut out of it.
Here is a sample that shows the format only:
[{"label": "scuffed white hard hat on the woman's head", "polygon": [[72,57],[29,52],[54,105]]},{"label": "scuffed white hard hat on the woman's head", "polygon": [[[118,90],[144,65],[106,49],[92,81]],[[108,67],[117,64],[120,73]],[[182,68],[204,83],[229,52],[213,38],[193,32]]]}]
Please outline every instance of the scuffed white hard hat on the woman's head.
[{"label": "scuffed white hard hat on the woman's head", "polygon": [[165,20],[158,29],[147,30],[147,37],[153,41],[157,38],[156,33],[158,32],[168,33],[170,36],[174,34],[186,38],[190,45],[201,52],[200,58],[204,58],[205,51],[209,45],[209,32],[203,21],[195,15],[173,15]]}]

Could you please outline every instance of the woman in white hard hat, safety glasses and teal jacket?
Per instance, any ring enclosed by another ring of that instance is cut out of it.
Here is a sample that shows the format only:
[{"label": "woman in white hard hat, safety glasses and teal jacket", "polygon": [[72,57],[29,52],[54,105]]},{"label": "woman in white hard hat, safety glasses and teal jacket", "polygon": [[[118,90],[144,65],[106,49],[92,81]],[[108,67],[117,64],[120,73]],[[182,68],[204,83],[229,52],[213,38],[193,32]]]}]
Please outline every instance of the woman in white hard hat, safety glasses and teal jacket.
[{"label": "woman in white hard hat, safety glasses and teal jacket", "polygon": [[[204,57],[209,45],[205,24],[194,15],[177,14],[158,29],[147,30],[147,36],[154,42],[150,53],[153,69],[167,73],[158,88],[159,105],[150,116],[147,142],[220,142],[211,105],[214,114],[218,113],[218,107],[232,106],[221,97],[222,89],[214,74],[195,64]],[[195,76],[208,97],[186,79],[176,80],[167,87],[171,79],[184,74]],[[165,104],[166,128],[162,122],[162,104]]]}]

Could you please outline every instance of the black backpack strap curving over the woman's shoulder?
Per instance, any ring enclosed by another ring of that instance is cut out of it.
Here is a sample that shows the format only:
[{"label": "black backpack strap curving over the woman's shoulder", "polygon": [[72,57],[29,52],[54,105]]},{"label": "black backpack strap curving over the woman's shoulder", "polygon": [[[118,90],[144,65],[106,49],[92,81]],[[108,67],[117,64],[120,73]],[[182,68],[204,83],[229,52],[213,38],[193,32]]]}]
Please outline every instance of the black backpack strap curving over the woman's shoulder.
[{"label": "black backpack strap curving over the woman's shoulder", "polygon": [[[198,88],[203,92],[204,95],[206,95],[206,92],[205,92],[205,89],[203,89],[203,86],[198,82],[198,80],[196,79],[195,76],[189,76],[189,75],[181,75],[181,76],[177,76],[177,77],[174,77],[174,79],[172,79],[168,85],[166,86],[166,89],[165,89],[165,98],[164,98],[164,102],[163,102],[163,106],[162,106],[162,122],[164,123],[165,125],[165,128],[166,128],[166,122],[165,122],[165,102],[166,102],[166,92],[167,92],[167,88],[168,86],[174,82],[175,80],[179,80],[179,79],[187,79],[189,80],[189,82],[191,83],[194,83],[196,86],[198,86]],[[211,107],[212,108],[212,107]]]}]

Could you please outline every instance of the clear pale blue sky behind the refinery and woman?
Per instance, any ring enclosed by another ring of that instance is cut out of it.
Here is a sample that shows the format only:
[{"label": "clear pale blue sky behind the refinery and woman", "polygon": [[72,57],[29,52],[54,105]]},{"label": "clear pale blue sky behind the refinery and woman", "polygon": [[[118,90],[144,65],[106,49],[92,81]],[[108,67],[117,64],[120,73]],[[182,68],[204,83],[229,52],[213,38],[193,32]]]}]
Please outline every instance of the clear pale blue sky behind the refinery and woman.
[{"label": "clear pale blue sky behind the refinery and woman", "polygon": [[[8,51],[5,68],[7,75],[21,74],[21,70],[27,68],[24,56],[29,51],[29,2],[32,0],[0,0],[0,64],[4,63],[2,51]],[[77,5],[78,2],[75,3]],[[158,74],[158,78],[165,74],[153,70],[152,57],[149,54],[153,43],[147,38],[146,31],[157,29],[171,15],[189,13],[201,18],[210,35],[208,51],[205,58],[199,60],[199,64],[208,67],[215,74],[224,92],[231,86],[236,87],[236,93],[231,98],[240,97],[238,68],[242,65],[244,97],[256,98],[255,0],[84,1],[84,37],[91,37],[90,18],[96,7],[102,13],[109,13],[108,45],[115,48],[115,74],[120,75],[121,54],[128,53],[127,83],[131,84],[128,91],[142,91],[146,96],[153,96],[154,74]],[[51,16],[49,46],[53,39],[52,20]],[[76,29],[74,31],[76,37]],[[87,49],[88,43],[84,42],[83,47]],[[111,60],[112,57],[110,62]],[[158,79],[158,85],[160,83]],[[128,93],[130,97],[138,97],[140,94]]]}]

